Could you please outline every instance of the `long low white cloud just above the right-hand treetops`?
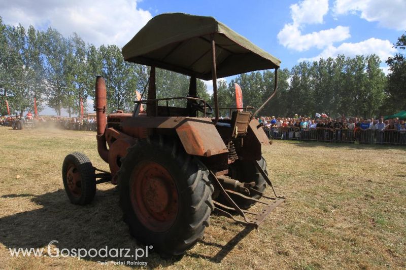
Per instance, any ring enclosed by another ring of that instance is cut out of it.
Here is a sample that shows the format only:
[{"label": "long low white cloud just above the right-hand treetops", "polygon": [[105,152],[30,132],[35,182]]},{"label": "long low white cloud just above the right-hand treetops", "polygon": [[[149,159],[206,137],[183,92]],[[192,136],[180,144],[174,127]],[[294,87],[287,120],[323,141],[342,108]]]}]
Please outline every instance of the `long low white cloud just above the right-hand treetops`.
[{"label": "long low white cloud just above the right-hand treetops", "polygon": [[358,43],[343,43],[338,47],[332,45],[324,49],[318,56],[312,58],[300,58],[301,61],[318,61],[320,58],[336,57],[339,54],[344,54],[346,57],[354,57],[356,55],[378,55],[382,61],[385,61],[389,56],[396,52],[392,48],[392,44],[388,40],[380,40],[379,38],[369,38],[368,40]]}]

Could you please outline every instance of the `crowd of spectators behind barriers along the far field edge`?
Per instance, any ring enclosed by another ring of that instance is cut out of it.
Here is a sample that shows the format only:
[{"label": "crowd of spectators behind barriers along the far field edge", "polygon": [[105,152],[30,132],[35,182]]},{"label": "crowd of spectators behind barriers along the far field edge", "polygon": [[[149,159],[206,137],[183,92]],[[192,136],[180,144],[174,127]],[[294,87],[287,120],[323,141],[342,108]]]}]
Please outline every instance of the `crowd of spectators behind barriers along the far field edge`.
[{"label": "crowd of spectators behind barriers along the far field edge", "polygon": [[[0,126],[12,126],[18,117],[0,117]],[[362,119],[300,117],[261,117],[258,121],[272,139],[318,140],[329,142],[391,143],[406,144],[406,123],[401,119]],[[96,131],[96,118],[40,117],[36,127],[66,130]]]}]

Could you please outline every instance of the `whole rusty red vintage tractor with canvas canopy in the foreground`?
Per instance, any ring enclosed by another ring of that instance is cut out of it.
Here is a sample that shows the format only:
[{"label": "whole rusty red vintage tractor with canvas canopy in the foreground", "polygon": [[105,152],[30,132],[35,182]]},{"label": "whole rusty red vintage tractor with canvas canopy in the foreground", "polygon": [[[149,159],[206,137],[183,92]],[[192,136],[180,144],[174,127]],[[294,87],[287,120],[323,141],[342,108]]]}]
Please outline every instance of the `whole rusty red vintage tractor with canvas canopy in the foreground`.
[{"label": "whole rusty red vintage tractor with canvas canopy in the foreground", "polygon": [[[107,115],[105,80],[97,77],[97,149],[110,172],[94,168],[83,153],[67,155],[62,178],[71,202],[89,204],[96,184],[118,184],[131,235],[163,255],[192,248],[214,210],[257,228],[285,201],[268,178],[261,147],[269,139],[254,119],[276,93],[280,60],[212,17],[181,13],[151,19],[122,54],[150,66],[148,97],[135,101],[132,113]],[[190,76],[188,95],[156,98],[156,67]],[[275,69],[272,95],[254,113],[249,106],[234,108],[230,119],[220,119],[217,79],[263,69]],[[197,79],[213,81],[213,108],[199,98]],[[169,106],[173,100],[186,106]],[[263,194],[267,185],[274,197]],[[262,210],[247,210],[257,202]]]}]

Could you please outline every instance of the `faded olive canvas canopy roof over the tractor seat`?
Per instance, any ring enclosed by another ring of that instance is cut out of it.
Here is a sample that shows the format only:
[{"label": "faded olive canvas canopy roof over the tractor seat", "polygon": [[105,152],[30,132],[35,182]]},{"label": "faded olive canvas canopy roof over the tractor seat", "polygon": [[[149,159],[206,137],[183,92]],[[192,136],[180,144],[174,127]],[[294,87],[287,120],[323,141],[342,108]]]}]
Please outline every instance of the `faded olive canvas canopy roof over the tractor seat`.
[{"label": "faded olive canvas canopy roof over the tractor seat", "polygon": [[278,68],[281,61],[213,17],[165,13],[152,18],[122,49],[126,61],[212,79],[211,34],[217,78]]}]

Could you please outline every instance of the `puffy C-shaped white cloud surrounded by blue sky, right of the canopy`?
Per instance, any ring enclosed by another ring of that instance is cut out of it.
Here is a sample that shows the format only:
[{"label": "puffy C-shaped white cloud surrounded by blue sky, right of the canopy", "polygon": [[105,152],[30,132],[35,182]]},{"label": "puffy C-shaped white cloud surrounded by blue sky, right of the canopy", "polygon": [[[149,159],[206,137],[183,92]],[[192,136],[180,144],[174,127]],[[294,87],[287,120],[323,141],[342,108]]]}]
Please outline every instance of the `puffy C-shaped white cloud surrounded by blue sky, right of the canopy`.
[{"label": "puffy C-shaped white cloud surrounded by blue sky, right of the canopy", "polygon": [[334,42],[341,42],[349,38],[350,28],[337,26],[318,32],[302,34],[303,25],[323,23],[323,17],[328,13],[328,0],[305,0],[290,6],[292,23],[285,24],[278,33],[278,41],[283,46],[306,51],[316,47],[323,49]]}]

